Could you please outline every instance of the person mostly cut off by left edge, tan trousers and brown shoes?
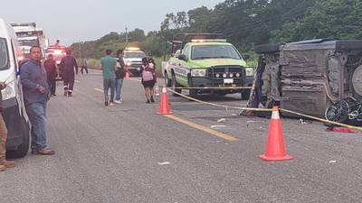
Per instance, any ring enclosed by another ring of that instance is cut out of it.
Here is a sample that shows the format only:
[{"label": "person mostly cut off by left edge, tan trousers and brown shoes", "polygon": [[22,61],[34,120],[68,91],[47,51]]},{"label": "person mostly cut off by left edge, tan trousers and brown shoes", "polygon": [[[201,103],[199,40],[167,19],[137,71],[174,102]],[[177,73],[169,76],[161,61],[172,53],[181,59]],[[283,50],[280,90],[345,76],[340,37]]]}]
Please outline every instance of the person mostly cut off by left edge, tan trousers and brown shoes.
[{"label": "person mostly cut off by left edge, tan trousers and brown shoes", "polygon": [[[5,82],[0,82],[0,90],[6,88]],[[15,166],[14,161],[6,161],[6,140],[7,140],[7,129],[3,116],[3,97],[0,94],[0,171],[5,171],[6,168],[13,168]]]}]

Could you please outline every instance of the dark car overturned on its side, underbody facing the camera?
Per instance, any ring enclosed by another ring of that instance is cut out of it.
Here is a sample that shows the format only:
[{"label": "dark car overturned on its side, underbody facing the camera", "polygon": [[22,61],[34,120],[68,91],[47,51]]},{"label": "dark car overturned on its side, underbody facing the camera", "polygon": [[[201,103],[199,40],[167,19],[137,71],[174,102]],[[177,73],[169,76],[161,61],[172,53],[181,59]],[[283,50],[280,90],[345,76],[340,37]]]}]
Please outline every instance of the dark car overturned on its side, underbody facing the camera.
[{"label": "dark car overturned on its side, underbody facing the camera", "polygon": [[262,106],[280,105],[338,121],[345,106],[326,112],[329,106],[346,98],[362,99],[362,40],[262,44],[255,51],[261,58],[254,100]]}]

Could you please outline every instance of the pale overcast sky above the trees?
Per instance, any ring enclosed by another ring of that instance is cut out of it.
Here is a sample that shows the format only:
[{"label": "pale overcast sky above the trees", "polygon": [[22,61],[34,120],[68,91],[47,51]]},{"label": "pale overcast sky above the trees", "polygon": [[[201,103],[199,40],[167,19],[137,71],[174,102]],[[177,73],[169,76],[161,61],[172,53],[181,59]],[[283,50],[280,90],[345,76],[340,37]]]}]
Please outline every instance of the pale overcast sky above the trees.
[{"label": "pale overcast sky above the trees", "polygon": [[51,44],[99,39],[109,32],[139,28],[159,30],[168,13],[224,0],[1,0],[0,18],[7,23],[35,22]]}]

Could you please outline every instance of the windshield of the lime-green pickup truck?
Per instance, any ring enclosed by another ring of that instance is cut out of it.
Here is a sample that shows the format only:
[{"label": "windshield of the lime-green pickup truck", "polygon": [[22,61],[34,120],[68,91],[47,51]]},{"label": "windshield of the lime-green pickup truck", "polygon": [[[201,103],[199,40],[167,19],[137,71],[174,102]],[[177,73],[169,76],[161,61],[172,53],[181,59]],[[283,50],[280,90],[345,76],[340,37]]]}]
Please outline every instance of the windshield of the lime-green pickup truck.
[{"label": "windshield of the lime-green pickup truck", "polygon": [[195,45],[191,51],[192,60],[235,59],[241,60],[232,45]]}]

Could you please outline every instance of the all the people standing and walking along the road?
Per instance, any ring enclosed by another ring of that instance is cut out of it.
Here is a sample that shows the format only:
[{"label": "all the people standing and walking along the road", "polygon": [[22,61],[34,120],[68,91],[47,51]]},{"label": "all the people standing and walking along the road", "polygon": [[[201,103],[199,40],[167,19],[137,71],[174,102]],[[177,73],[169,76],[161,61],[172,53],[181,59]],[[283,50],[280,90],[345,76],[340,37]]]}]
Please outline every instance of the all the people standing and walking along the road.
[{"label": "all the people standing and walking along the road", "polygon": [[[112,106],[114,103],[121,103],[121,88],[123,78],[129,69],[123,60],[123,51],[118,50],[118,59],[111,57],[112,51],[107,50],[106,56],[101,59],[103,75],[105,106]],[[64,80],[64,96],[71,97],[74,86],[74,74],[78,74],[78,65],[71,50],[66,51],[67,56],[61,61],[62,77]],[[84,63],[82,64],[84,65]],[[156,79],[155,61],[148,58],[142,59],[142,84],[145,88],[146,103],[153,103],[154,86]],[[87,71],[88,72],[88,71]],[[38,46],[30,50],[30,59],[21,65],[20,77],[23,86],[24,104],[26,114],[29,116],[32,125],[31,130],[31,151],[33,154],[53,155],[55,152],[47,144],[46,112],[47,102],[51,96],[55,96],[55,77],[59,69],[53,60],[52,55],[48,56],[42,64],[42,51]],[[129,73],[130,74],[130,73]],[[6,88],[4,82],[0,82],[0,90]],[[110,89],[110,97],[108,91]],[[14,161],[5,159],[7,130],[2,111],[2,97],[0,94],[0,171],[15,166]]]}]

